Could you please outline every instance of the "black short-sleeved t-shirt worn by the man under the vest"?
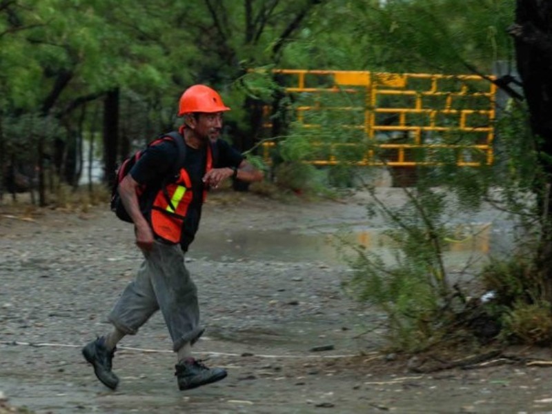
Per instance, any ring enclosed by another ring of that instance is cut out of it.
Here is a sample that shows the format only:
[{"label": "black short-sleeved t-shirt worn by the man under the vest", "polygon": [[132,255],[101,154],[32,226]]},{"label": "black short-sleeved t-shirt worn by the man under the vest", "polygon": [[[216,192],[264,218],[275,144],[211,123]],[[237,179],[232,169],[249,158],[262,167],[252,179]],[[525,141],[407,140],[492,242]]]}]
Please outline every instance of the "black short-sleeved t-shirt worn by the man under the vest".
[{"label": "black short-sleeved t-shirt worn by the man under the vest", "polygon": [[[213,168],[237,167],[244,159],[244,156],[226,141],[217,139],[213,146],[216,146],[213,150]],[[173,141],[167,140],[149,146],[144,155],[130,170],[132,178],[138,184],[146,187],[143,197],[150,201],[149,206],[151,206],[162,183],[172,178],[168,176],[174,172],[173,166],[177,161],[177,146]],[[184,228],[182,228],[181,248],[184,251],[188,250],[188,246],[193,242],[201,219],[204,191],[202,179],[205,175],[206,162],[207,147],[195,149],[186,145],[184,168],[188,171],[188,176],[192,182],[193,200],[188,207]],[[150,219],[149,208],[142,213],[144,213],[146,219]]]}]

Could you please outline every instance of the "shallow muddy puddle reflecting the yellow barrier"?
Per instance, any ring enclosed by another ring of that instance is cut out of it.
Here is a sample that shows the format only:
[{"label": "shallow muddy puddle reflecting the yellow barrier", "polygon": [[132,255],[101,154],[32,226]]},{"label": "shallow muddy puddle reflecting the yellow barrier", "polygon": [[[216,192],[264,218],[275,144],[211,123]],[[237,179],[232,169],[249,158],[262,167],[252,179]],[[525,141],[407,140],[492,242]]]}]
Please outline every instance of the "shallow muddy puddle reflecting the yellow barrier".
[{"label": "shallow muddy puddle reflecting the yellow barrier", "polygon": [[[363,246],[379,255],[387,263],[394,262],[393,241],[384,229],[355,227],[348,230],[299,229],[258,230],[240,229],[221,235],[201,233],[194,242],[190,255],[215,260],[267,260],[280,262],[326,262],[344,264],[342,252],[352,252],[347,244]],[[506,229],[493,229],[490,223],[464,224],[453,229],[454,234],[444,251],[449,266],[468,262],[484,262],[489,255],[501,255],[509,248]]]}]

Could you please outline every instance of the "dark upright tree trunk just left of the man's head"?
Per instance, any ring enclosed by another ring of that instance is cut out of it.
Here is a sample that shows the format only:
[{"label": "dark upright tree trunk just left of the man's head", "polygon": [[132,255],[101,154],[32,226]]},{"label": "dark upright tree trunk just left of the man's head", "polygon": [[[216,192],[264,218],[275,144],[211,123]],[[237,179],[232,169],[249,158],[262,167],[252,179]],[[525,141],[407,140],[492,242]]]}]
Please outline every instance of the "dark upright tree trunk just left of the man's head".
[{"label": "dark upright tree trunk just left of the man's head", "polygon": [[119,88],[110,90],[103,101],[103,181],[115,183],[119,141]]}]

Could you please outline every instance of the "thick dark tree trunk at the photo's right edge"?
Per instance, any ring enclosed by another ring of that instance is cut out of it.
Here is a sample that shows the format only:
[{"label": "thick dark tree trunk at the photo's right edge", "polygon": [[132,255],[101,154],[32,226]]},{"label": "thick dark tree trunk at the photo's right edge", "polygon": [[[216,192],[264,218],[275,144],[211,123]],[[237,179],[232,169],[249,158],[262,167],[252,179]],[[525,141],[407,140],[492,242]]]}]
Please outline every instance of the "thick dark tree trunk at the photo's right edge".
[{"label": "thick dark tree trunk at the photo's right edge", "polygon": [[515,24],[509,29],[515,41],[517,70],[529,107],[544,177],[535,183],[542,219],[542,243],[536,267],[543,282],[544,299],[552,302],[552,2],[517,0]]}]

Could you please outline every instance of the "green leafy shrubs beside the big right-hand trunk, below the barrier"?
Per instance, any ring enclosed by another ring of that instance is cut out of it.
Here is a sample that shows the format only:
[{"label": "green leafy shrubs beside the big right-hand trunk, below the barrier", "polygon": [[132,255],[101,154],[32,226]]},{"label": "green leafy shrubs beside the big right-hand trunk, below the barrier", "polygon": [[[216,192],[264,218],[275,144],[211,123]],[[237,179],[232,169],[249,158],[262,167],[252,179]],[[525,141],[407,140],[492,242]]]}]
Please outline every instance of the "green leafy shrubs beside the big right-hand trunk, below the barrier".
[{"label": "green leafy shrubs beside the big right-hand trunk, below the barrier", "polygon": [[[355,270],[350,290],[386,312],[391,346],[420,351],[451,339],[451,326],[456,333],[475,335],[484,343],[552,342],[549,274],[546,266],[542,270],[547,221],[535,202],[546,196],[546,181],[526,114],[526,108],[518,105],[502,113],[493,167],[459,168],[443,158],[441,166],[417,171],[413,188],[405,189],[408,202],[402,206],[386,206],[367,187],[375,199],[368,208],[383,214],[392,228],[386,235],[393,244],[386,247],[395,255],[390,262],[357,248],[358,257],[349,257]],[[452,225],[455,215],[475,212],[486,201],[511,213],[518,234],[514,248],[491,257],[482,268],[466,263],[464,273],[455,279],[469,275],[475,286],[456,282],[451,288],[444,253],[447,242],[458,238]],[[492,294],[489,302],[462,299],[480,295],[481,290]],[[481,315],[484,326],[477,326]],[[500,335],[493,331],[484,337],[482,331],[491,325],[500,327]]]}]

